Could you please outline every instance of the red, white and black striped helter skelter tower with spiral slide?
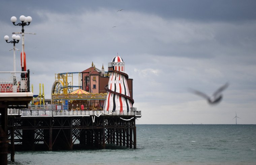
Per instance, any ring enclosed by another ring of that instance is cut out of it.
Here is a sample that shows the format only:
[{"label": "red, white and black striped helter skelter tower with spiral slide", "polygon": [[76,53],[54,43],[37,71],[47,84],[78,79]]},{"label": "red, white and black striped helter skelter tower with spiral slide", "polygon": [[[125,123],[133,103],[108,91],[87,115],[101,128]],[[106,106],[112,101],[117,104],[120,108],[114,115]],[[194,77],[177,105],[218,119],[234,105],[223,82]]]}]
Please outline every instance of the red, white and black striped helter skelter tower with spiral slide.
[{"label": "red, white and black striped helter skelter tower with spiral slide", "polygon": [[124,61],[120,56],[113,58],[108,63],[110,74],[108,85],[105,86],[107,99],[104,103],[104,110],[107,111],[129,111],[134,100],[130,97],[127,79],[128,75],[124,72]]}]

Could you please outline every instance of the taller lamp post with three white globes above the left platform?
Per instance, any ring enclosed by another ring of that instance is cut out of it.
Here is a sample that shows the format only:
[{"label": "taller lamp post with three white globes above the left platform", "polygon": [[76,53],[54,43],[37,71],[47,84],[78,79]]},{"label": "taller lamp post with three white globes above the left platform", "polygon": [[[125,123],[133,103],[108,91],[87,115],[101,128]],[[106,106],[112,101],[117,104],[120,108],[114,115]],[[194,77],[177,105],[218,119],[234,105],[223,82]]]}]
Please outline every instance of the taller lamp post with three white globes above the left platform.
[{"label": "taller lamp post with three white globes above the left platform", "polygon": [[[20,17],[20,21],[21,23],[15,24],[15,22],[17,21],[16,17],[11,17],[11,22],[13,23],[13,25],[15,26],[22,26],[22,56],[21,56],[21,70],[24,71],[24,26],[28,26],[30,24],[30,22],[32,21],[32,18],[30,16],[25,17],[24,15],[21,15]],[[22,73],[21,74],[21,78],[25,78],[25,74]]]}]

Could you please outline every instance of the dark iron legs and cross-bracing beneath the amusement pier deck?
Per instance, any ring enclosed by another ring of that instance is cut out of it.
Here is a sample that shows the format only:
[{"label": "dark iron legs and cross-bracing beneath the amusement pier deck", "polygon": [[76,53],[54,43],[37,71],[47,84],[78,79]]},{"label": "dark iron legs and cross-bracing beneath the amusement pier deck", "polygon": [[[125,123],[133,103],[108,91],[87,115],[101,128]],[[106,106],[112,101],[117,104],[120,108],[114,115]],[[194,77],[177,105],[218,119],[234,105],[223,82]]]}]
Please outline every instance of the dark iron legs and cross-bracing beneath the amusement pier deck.
[{"label": "dark iron legs and cross-bracing beneath the amusement pier deck", "polygon": [[8,119],[9,139],[14,137],[15,151],[105,149],[108,144],[136,148],[135,120],[103,115],[15,117]]}]

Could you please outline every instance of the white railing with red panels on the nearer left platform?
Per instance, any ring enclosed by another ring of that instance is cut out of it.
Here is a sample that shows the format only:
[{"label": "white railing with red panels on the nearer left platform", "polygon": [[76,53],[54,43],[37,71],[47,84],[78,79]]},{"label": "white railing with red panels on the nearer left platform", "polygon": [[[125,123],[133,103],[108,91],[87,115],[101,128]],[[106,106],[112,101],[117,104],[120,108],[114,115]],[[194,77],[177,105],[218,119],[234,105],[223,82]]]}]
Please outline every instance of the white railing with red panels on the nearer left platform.
[{"label": "white railing with red panels on the nearer left platform", "polygon": [[[27,77],[21,78],[19,73]],[[29,70],[0,71],[0,77],[0,93],[29,92]]]}]

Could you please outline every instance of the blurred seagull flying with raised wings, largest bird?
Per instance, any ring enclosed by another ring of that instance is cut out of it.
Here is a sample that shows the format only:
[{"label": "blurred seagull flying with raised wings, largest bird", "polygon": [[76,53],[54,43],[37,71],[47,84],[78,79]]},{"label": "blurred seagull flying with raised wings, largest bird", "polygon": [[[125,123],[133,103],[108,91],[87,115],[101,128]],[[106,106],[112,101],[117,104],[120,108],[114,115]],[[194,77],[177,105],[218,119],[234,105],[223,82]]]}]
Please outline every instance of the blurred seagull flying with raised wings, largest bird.
[{"label": "blurred seagull flying with raised wings, largest bird", "polygon": [[222,98],[223,98],[223,95],[221,94],[221,92],[223,90],[225,90],[227,87],[228,87],[228,83],[226,83],[225,85],[223,85],[222,87],[220,87],[216,92],[213,93],[213,96],[212,97],[209,97],[207,96],[206,94],[200,92],[200,91],[197,91],[197,90],[193,90],[193,89],[190,89],[191,92],[193,92],[194,94],[196,95],[199,95],[203,98],[205,98],[209,104],[217,104],[219,103]]}]

